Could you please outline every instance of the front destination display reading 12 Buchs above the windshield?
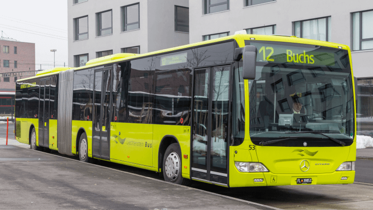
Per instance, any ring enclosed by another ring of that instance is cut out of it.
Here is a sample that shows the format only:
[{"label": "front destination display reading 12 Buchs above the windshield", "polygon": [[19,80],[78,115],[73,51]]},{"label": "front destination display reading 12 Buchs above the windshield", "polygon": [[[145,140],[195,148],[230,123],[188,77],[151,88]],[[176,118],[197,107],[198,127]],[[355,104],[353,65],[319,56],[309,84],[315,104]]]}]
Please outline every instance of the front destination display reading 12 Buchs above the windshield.
[{"label": "front destination display reading 12 Buchs above the windshield", "polygon": [[250,42],[257,47],[257,62],[292,63],[294,65],[330,66],[336,63],[335,53],[320,47],[296,47],[272,43]]}]

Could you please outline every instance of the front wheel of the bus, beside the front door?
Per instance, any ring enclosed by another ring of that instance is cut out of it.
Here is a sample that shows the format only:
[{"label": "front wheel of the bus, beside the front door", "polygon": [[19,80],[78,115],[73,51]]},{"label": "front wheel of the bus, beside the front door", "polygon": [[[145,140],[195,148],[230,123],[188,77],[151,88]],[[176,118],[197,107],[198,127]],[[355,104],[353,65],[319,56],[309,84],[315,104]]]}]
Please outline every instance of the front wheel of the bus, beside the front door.
[{"label": "front wheel of the bus, beside the front door", "polygon": [[167,147],[163,158],[162,171],[166,182],[189,186],[191,180],[182,176],[182,151],[178,143]]}]

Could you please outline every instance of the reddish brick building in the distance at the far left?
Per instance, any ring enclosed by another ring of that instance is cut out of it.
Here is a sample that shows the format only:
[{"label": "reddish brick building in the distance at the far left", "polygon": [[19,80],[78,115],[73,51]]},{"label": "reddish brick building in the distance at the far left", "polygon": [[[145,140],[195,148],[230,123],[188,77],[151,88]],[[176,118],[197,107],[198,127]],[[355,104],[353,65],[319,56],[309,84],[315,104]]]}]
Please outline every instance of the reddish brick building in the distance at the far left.
[{"label": "reddish brick building in the distance at the far left", "polygon": [[35,75],[35,43],[0,40],[0,92],[15,92],[15,81]]}]

